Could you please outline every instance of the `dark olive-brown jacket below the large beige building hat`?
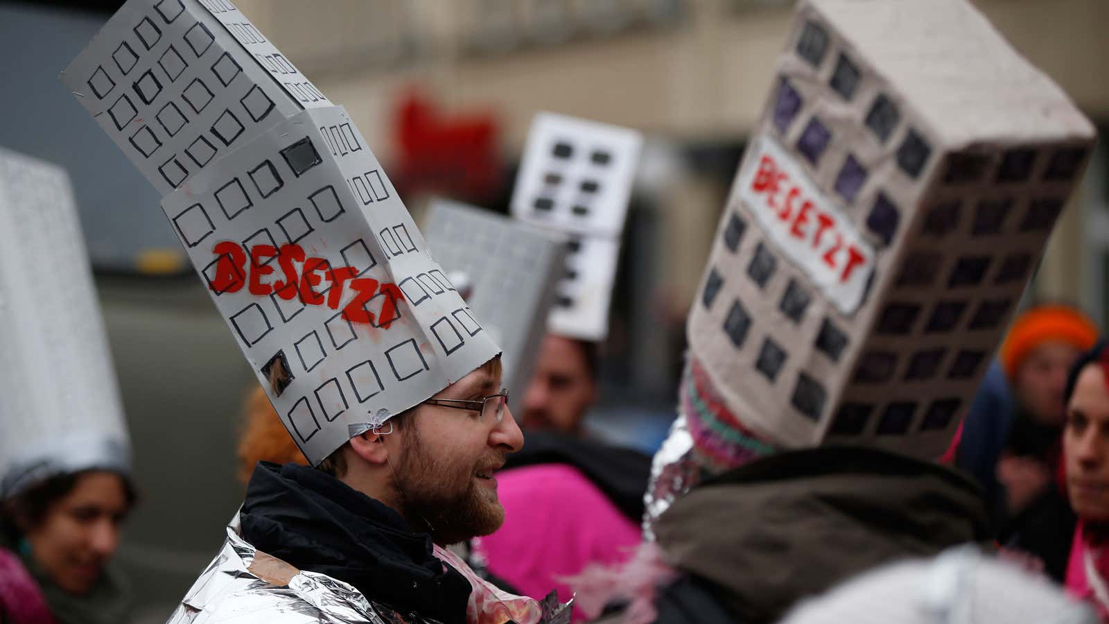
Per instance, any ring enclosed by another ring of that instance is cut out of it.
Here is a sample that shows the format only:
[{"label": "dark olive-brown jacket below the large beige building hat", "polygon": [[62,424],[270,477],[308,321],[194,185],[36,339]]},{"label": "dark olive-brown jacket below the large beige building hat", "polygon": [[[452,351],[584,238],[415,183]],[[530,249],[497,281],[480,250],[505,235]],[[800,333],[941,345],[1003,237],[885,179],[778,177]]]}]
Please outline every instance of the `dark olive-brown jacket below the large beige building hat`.
[{"label": "dark olive-brown jacket below the large beige building hat", "polygon": [[776,622],[876,565],[989,537],[968,477],[859,447],[781,453],[705,481],[655,534],[686,573],[659,596],[663,623]]}]

